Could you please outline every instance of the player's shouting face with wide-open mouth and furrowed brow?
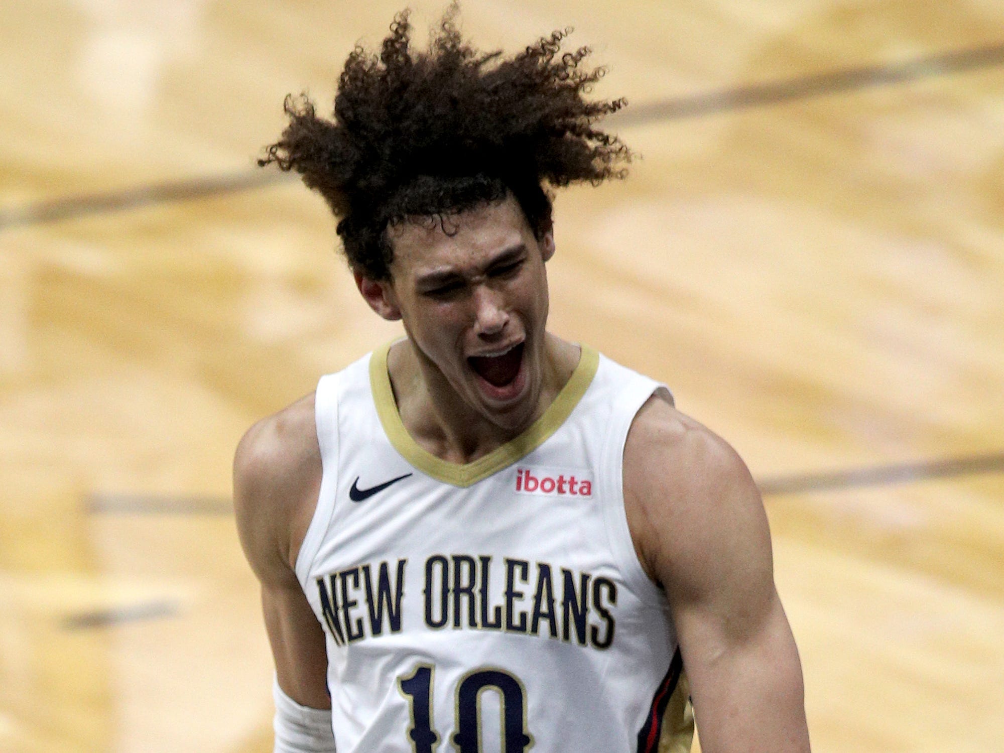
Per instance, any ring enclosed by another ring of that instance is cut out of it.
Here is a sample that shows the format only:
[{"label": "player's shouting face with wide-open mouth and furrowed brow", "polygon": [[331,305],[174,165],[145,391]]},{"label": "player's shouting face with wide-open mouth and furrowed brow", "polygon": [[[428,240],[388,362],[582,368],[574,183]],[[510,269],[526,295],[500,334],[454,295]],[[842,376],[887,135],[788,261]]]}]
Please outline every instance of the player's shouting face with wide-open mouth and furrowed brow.
[{"label": "player's shouting face with wide-open mouth and furrowed brow", "polygon": [[544,373],[551,235],[538,242],[512,197],[442,225],[406,222],[388,232],[391,281],[379,283],[378,305],[363,295],[381,315],[404,320],[433,398],[457,400],[504,429],[524,427]]}]

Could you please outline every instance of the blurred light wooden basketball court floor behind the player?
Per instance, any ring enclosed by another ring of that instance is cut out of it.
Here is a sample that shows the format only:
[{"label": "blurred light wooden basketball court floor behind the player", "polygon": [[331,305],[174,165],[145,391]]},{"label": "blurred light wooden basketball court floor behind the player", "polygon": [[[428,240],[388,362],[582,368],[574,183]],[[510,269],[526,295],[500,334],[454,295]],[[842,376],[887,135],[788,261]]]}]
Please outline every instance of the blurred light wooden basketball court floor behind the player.
[{"label": "blurred light wooden basketball court floor behind the player", "polygon": [[[0,0],[0,750],[271,750],[233,448],[398,330],[253,159],[398,9]],[[463,8],[566,25],[644,159],[557,199],[552,328],[747,460],[815,750],[1004,750],[1004,5]]]}]

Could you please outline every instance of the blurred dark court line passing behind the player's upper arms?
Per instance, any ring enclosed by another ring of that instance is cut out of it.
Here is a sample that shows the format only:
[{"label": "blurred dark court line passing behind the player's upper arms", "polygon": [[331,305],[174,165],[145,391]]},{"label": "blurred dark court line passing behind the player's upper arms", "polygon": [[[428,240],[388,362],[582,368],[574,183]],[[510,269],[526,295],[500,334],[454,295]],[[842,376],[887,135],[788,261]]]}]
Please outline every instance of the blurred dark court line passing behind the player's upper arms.
[{"label": "blurred dark court line passing behind the player's upper arms", "polygon": [[[1004,473],[1004,452],[946,460],[866,466],[843,471],[785,474],[767,477],[756,483],[764,497],[776,497],[784,494],[912,484],[933,479],[990,473]],[[87,511],[114,515],[232,515],[234,508],[230,500],[223,497],[104,494],[90,497],[87,500]]]}]

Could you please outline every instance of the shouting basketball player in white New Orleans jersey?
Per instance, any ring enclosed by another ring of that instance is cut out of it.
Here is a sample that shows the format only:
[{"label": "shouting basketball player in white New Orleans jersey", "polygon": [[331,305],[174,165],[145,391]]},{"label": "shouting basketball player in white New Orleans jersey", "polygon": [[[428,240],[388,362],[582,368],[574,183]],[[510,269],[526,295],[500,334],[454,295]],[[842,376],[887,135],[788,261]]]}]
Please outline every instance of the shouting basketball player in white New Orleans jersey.
[{"label": "shouting basketball player in white New Orleans jersey", "polygon": [[558,32],[504,59],[448,13],[286,102],[263,163],[339,218],[405,338],[254,426],[241,541],[276,666],[275,750],[807,751],[757,489],[669,392],[547,332],[542,184],[621,177],[601,71]]}]

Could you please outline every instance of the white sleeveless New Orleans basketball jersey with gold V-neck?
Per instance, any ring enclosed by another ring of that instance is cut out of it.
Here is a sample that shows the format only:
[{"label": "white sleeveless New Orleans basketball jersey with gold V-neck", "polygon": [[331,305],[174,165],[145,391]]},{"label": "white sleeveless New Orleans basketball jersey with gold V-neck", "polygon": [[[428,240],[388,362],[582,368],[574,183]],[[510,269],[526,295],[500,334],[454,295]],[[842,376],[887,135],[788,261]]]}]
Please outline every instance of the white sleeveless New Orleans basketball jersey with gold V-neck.
[{"label": "white sleeveless New Orleans basketball jersey with gold V-neck", "polygon": [[660,386],[583,347],[551,406],[467,465],[402,424],[389,346],[321,379],[323,477],[296,573],[338,753],[667,753],[693,721],[621,460]]}]

